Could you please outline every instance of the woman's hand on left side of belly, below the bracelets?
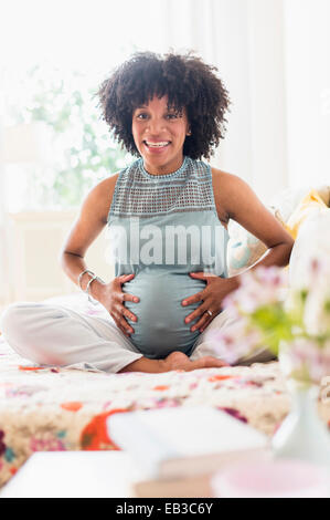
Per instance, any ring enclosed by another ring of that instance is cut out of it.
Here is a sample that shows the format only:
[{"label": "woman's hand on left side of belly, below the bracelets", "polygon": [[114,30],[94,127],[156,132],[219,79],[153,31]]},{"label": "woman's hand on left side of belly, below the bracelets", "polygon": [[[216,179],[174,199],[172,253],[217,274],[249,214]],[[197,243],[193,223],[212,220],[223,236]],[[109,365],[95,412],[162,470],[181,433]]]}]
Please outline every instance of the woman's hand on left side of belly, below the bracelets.
[{"label": "woman's hand on left side of belly, below the bracelets", "polygon": [[127,319],[137,322],[137,316],[125,306],[125,302],[138,303],[140,299],[134,294],[123,292],[123,284],[129,282],[135,277],[131,274],[123,274],[111,280],[109,283],[105,283],[99,292],[98,301],[109,312],[115,320],[116,325],[120,331],[129,337],[134,334],[134,329],[127,322]]}]

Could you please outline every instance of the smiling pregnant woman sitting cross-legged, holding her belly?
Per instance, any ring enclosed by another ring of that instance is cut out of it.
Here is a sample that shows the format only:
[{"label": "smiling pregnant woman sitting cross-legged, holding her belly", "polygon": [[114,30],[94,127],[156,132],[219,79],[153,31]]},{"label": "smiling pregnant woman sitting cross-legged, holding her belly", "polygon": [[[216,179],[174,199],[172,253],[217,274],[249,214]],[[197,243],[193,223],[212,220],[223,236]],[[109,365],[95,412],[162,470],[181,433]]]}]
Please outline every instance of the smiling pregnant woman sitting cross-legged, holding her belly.
[{"label": "smiling pregnant woman sitting cross-legged, holding her belly", "polygon": [[[205,341],[226,326],[226,226],[235,219],[287,264],[292,240],[238,177],[202,162],[224,136],[228,96],[216,70],[192,54],[137,53],[99,89],[104,119],[137,157],[85,198],[62,251],[66,274],[104,316],[19,302],[4,311],[10,345],[41,364],[107,372],[223,366]],[[116,278],[84,256],[107,226]]]}]

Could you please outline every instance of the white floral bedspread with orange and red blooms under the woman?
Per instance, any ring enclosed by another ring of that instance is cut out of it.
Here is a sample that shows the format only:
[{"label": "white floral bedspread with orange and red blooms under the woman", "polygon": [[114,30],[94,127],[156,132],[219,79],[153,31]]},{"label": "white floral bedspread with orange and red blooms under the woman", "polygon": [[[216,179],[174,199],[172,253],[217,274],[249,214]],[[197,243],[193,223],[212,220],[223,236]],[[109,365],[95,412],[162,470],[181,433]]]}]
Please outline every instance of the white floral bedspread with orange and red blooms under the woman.
[{"label": "white floral bedspread with orange and red blooms under the woman", "polygon": [[[34,451],[118,449],[106,430],[111,414],[205,404],[272,436],[289,397],[274,362],[166,374],[42,368],[0,335],[0,486]],[[330,419],[329,408],[321,414]]]}]

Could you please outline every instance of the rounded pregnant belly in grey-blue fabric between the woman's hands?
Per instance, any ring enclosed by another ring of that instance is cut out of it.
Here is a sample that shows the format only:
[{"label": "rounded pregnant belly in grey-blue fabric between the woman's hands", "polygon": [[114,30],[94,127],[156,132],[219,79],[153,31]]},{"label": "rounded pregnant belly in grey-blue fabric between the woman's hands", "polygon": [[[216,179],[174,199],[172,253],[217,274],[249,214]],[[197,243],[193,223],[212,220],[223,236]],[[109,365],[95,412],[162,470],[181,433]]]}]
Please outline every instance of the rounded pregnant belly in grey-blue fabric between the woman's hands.
[{"label": "rounded pregnant belly in grey-blue fabric between the woman's hands", "polygon": [[189,353],[200,332],[191,332],[184,319],[201,302],[182,306],[184,298],[205,288],[205,282],[187,273],[141,271],[123,287],[124,292],[139,297],[139,303],[125,302],[138,321],[131,322],[135,346],[147,357],[166,357],[173,351]]}]

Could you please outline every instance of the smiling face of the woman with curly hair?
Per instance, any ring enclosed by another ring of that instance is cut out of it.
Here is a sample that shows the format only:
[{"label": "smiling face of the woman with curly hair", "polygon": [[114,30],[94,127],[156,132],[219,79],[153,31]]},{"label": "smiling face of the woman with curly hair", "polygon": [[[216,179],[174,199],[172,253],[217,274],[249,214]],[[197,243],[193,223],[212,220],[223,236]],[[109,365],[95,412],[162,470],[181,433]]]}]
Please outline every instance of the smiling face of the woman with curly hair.
[{"label": "smiling face of the woman with curly hair", "polygon": [[189,135],[185,110],[168,108],[168,97],[152,97],[134,111],[131,131],[145,168],[151,175],[170,174],[182,165],[183,143]]}]

